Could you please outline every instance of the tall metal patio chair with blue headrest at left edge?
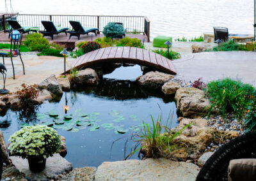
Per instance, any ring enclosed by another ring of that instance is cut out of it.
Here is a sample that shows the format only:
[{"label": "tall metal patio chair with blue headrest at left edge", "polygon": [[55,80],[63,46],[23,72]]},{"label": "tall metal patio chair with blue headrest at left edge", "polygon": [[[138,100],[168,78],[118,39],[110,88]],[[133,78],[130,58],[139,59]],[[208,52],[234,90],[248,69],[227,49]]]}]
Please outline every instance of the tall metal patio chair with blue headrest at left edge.
[{"label": "tall metal patio chair with blue headrest at left edge", "polygon": [[11,47],[10,49],[8,48],[0,49],[0,57],[3,57],[3,64],[4,64],[4,57],[11,58],[12,69],[13,69],[13,79],[15,79],[15,71],[14,71],[13,59],[12,59],[13,57],[17,57],[17,56],[20,57],[20,61],[22,62],[22,66],[23,66],[23,74],[25,75],[24,63],[20,56],[20,43],[22,40],[22,33],[19,33],[19,31],[17,30],[13,30],[10,36],[11,36]]}]

